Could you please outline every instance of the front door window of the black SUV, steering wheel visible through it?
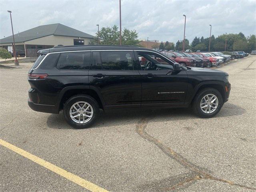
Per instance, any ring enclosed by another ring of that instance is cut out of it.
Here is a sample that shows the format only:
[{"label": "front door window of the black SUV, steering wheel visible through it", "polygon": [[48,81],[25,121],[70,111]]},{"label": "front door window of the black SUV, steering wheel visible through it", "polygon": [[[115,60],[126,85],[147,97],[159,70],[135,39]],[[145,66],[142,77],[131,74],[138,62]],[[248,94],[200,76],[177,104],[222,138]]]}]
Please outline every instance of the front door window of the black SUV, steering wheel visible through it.
[{"label": "front door window of the black SUV, steering wheel visible through it", "polygon": [[173,62],[153,52],[137,52],[142,70],[173,70]]}]

